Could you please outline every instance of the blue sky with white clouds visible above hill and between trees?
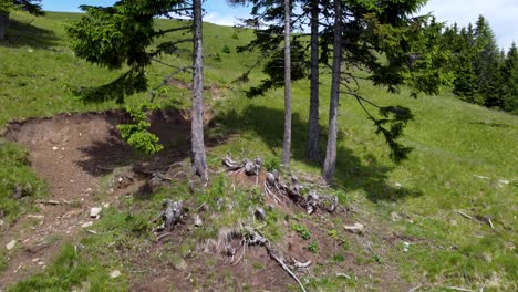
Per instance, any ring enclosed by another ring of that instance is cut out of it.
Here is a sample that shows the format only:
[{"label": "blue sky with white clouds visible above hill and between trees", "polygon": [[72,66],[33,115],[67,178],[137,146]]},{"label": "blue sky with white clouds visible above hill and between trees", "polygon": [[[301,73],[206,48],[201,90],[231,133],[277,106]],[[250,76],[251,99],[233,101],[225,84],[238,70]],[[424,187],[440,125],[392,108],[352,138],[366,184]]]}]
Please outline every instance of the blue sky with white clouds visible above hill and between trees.
[{"label": "blue sky with white clouds visible above hill and between trees", "polygon": [[[113,0],[43,0],[48,11],[80,11],[79,6],[111,6]],[[246,18],[246,7],[229,7],[225,0],[205,1],[204,20],[222,25],[234,25],[237,18]],[[476,22],[483,14],[493,28],[498,45],[508,49],[512,41],[518,42],[518,0],[428,0],[419,13],[432,12],[438,21],[459,27]]]}]

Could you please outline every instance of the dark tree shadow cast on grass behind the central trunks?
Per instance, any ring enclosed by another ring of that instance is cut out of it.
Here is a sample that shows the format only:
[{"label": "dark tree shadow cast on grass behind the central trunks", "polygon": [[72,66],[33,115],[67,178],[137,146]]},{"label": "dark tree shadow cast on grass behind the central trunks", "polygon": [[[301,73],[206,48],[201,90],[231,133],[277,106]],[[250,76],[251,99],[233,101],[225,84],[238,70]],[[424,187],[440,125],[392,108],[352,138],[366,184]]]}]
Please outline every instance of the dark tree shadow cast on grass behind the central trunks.
[{"label": "dark tree shadow cast on grass behind the central trunks", "polygon": [[[231,111],[228,114],[216,116],[215,119],[226,126],[229,132],[255,132],[273,153],[280,156],[277,149],[282,148],[284,123],[282,111],[249,105],[242,113]],[[292,116],[292,157],[314,165],[305,159],[307,131],[307,123],[300,114],[294,113]],[[321,128],[321,133],[327,133],[327,128]],[[327,138],[322,136],[321,142],[323,143],[321,145],[324,145],[325,140]],[[400,201],[407,197],[422,195],[419,191],[388,185],[388,174],[394,167],[379,165],[373,155],[369,156],[371,157],[366,159],[369,163],[364,163],[351,149],[340,146],[336,157],[335,184],[345,191],[363,189],[373,202]]]}]

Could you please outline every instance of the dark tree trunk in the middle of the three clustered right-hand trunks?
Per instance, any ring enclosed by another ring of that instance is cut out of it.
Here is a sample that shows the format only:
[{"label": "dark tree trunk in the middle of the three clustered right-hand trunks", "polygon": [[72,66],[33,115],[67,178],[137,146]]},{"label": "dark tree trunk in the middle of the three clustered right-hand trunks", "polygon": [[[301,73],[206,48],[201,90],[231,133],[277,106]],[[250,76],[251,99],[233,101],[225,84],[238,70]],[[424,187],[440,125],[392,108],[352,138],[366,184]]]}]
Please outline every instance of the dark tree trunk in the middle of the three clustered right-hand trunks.
[{"label": "dark tree trunk in the middle of the three clustered right-hand trunks", "polygon": [[320,160],[319,138],[319,0],[311,1],[311,93],[309,113],[308,159]]}]

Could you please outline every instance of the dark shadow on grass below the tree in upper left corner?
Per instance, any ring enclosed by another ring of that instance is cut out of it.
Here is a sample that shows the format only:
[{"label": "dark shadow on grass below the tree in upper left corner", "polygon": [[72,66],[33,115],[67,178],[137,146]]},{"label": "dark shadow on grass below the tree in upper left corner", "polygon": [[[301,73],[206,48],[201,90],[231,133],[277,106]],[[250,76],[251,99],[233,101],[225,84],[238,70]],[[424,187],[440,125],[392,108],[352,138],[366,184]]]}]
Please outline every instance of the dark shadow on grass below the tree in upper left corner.
[{"label": "dark shadow on grass below the tree in upper left corner", "polygon": [[51,49],[59,44],[59,38],[51,30],[37,28],[31,22],[20,22],[11,19],[2,46],[18,48],[29,45],[35,49]]}]

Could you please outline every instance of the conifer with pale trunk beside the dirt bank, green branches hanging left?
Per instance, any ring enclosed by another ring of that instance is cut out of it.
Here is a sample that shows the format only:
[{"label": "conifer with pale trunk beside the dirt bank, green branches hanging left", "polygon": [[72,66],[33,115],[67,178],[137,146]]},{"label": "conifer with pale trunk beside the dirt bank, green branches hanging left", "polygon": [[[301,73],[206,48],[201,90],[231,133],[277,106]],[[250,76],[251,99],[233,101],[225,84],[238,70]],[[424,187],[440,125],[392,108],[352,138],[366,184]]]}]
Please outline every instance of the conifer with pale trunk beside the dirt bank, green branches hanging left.
[{"label": "conifer with pale trunk beside the dirt bank, green branches hanging left", "polygon": [[[201,0],[143,0],[117,1],[112,7],[81,7],[86,13],[68,29],[72,49],[79,58],[107,69],[128,66],[128,71],[110,84],[81,92],[85,101],[114,98],[124,102],[125,96],[148,88],[146,66],[160,54],[178,53],[177,44],[191,42],[193,66],[177,70],[193,71],[191,160],[193,173],[208,179],[204,145],[204,60]],[[180,14],[193,18],[190,25],[158,30],[154,19]],[[180,39],[152,44],[159,36],[178,31],[193,32],[191,39]],[[173,75],[173,74],[172,74]],[[152,91],[152,94],[154,92]],[[157,149],[157,148],[154,148]]]}]

